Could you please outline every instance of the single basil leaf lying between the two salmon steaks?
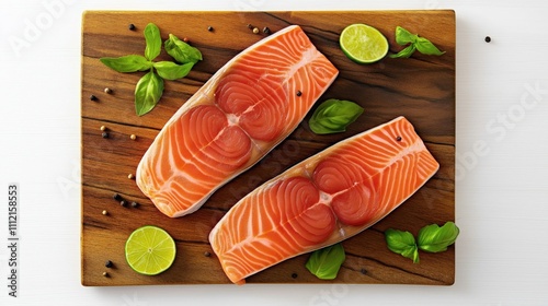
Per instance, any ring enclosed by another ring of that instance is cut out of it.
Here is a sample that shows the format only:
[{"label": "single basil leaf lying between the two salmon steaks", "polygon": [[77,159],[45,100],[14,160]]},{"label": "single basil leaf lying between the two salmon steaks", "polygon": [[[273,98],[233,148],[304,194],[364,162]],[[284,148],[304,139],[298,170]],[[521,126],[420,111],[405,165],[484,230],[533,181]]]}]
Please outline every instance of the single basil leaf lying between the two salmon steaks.
[{"label": "single basil leaf lying between the two salmon steaks", "polygon": [[344,132],[362,113],[364,108],[353,102],[331,98],[316,108],[308,125],[317,134]]}]

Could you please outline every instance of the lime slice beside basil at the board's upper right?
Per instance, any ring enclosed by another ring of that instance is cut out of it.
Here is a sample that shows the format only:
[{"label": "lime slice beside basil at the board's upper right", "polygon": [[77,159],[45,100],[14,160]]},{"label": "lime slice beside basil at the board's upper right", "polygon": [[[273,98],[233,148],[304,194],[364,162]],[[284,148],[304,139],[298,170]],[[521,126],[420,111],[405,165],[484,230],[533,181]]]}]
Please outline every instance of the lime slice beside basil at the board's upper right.
[{"label": "lime slice beside basil at the board's upper right", "polygon": [[372,63],[388,54],[388,40],[373,26],[351,24],[346,26],[339,38],[343,52],[357,63]]}]

